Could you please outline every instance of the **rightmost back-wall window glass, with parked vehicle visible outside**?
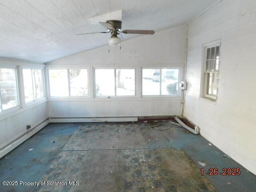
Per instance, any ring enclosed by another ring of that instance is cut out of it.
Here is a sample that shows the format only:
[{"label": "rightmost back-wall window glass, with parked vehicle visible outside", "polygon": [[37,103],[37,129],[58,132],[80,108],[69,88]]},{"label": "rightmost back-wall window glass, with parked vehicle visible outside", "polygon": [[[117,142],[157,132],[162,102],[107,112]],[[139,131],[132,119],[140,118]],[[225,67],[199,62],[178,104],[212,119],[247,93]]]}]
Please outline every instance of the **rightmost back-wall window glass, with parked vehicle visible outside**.
[{"label": "rightmost back-wall window glass, with parked vehicle visible outside", "polygon": [[142,69],[142,95],[178,95],[179,69]]}]

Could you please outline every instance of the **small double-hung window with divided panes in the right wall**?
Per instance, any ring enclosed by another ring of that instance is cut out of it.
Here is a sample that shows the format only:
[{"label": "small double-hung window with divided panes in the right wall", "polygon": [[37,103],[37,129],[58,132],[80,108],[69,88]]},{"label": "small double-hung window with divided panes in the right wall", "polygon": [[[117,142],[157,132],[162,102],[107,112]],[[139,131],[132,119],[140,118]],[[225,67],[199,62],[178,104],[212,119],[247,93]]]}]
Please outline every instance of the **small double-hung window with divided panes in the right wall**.
[{"label": "small double-hung window with divided panes in the right wall", "polygon": [[220,44],[204,48],[202,96],[210,100],[217,98]]}]

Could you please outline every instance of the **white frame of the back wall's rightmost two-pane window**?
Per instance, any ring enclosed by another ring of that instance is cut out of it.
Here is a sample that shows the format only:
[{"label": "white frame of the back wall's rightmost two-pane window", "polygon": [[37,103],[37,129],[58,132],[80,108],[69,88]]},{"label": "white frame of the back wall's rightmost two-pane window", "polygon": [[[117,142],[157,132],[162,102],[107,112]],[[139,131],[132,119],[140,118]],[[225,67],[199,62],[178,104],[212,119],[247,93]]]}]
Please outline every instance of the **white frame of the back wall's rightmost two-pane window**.
[{"label": "white frame of the back wall's rightmost two-pane window", "polygon": [[[159,89],[159,95],[143,95],[143,69],[159,69],[160,70],[160,89]],[[161,94],[161,90],[162,90],[162,69],[178,69],[178,92],[175,95],[162,95]],[[181,89],[180,89],[180,82],[182,79],[182,67],[175,67],[175,66],[160,66],[160,67],[154,67],[154,66],[150,66],[150,67],[141,67],[141,97],[142,98],[150,98],[150,97],[180,97],[181,96]]]}]

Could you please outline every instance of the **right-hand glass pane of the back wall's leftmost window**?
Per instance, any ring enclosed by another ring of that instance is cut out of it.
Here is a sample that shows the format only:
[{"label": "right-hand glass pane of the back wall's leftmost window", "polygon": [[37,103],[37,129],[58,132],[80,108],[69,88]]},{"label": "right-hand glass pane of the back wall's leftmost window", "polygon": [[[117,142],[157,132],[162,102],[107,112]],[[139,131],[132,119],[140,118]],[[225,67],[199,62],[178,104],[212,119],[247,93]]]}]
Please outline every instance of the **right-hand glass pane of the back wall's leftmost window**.
[{"label": "right-hand glass pane of the back wall's leftmost window", "polygon": [[70,96],[88,95],[87,69],[69,70],[70,76]]}]

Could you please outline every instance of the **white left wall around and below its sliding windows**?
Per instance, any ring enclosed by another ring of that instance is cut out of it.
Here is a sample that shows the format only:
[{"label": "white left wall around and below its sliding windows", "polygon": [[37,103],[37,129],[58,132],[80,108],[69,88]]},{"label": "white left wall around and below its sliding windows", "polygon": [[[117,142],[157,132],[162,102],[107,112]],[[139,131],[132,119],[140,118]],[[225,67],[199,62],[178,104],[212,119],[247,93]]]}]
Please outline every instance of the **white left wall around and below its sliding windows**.
[{"label": "white left wall around and below its sliding windows", "polygon": [[[20,79],[19,70],[22,70],[22,67],[40,67],[44,68],[44,64],[31,63],[25,61],[17,61],[0,58],[0,68],[4,67],[16,67],[20,66],[20,69],[17,70],[18,79]],[[22,84],[21,80],[18,83],[19,96],[22,99]],[[20,100],[20,108],[11,110],[9,112],[0,113],[0,158],[10,151],[10,148],[15,148],[17,145],[8,146],[14,140],[17,140],[22,135],[26,134],[33,130],[36,126],[48,119],[48,105],[46,98],[42,98],[38,101],[30,102],[25,104]],[[26,126],[30,125],[31,129],[27,130]],[[33,131],[33,133],[35,133]],[[32,136],[31,132],[29,134]],[[24,140],[23,140],[24,141]],[[20,144],[19,142],[16,142]],[[8,148],[6,150],[6,148]]]}]

